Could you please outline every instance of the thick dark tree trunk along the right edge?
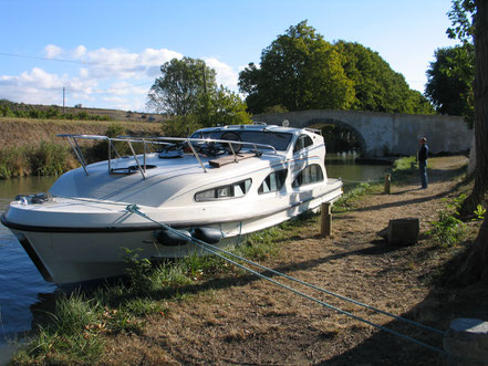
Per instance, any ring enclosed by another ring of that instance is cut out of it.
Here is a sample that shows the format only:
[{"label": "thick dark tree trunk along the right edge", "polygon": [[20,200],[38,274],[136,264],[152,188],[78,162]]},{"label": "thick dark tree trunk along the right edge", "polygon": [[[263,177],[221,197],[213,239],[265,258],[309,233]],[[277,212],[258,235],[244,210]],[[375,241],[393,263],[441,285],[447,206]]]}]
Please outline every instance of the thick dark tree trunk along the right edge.
[{"label": "thick dark tree trunk along the right edge", "polygon": [[[475,0],[475,139],[476,178],[470,199],[473,209],[488,191],[488,1]],[[471,210],[473,212],[473,210]],[[488,268],[488,215],[485,218],[474,245],[457,271],[458,280],[474,283],[487,279]]]}]

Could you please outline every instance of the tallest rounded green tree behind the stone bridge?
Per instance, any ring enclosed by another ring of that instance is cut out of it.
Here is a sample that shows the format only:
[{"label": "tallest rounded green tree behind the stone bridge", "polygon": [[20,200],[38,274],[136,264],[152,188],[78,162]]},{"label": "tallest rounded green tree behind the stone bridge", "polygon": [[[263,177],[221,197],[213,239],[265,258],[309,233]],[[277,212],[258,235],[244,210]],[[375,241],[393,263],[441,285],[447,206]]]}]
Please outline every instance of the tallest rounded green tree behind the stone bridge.
[{"label": "tallest rounded green tree behind the stone bridge", "polygon": [[278,105],[288,111],[344,109],[354,98],[341,55],[307,21],[266,48],[260,67],[250,63],[239,74],[239,87],[248,94],[252,113]]}]

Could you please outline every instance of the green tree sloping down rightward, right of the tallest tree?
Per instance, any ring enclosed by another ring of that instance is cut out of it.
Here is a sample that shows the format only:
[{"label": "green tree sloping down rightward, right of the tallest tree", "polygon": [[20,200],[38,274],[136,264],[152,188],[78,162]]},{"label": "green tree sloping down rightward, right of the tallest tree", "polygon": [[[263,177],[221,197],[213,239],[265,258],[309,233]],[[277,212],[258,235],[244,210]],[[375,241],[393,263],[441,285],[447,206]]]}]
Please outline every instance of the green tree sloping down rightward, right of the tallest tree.
[{"label": "green tree sloping down rightward, right of the tallest tree", "polygon": [[409,88],[405,77],[392,70],[377,52],[360,43],[339,41],[334,49],[343,57],[343,67],[354,85],[356,111],[433,114],[428,101]]}]

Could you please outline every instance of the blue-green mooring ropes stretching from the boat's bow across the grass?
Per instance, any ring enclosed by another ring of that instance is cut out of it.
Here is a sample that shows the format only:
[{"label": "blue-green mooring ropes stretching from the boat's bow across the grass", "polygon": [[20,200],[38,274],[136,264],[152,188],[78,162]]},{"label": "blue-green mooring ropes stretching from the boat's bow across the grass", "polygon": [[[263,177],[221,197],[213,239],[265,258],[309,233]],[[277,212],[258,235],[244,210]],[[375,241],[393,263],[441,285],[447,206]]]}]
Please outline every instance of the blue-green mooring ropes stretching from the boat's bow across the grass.
[{"label": "blue-green mooring ropes stretching from the boat's bow across the grass", "polygon": [[221,249],[221,248],[218,248],[218,247],[215,247],[215,245],[212,245],[212,244],[206,243],[205,241],[201,241],[201,240],[198,240],[198,239],[196,239],[196,238],[193,238],[191,236],[188,236],[188,234],[186,234],[186,233],[184,233],[184,232],[181,232],[181,231],[179,231],[179,230],[176,230],[176,229],[172,228],[172,227],[168,226],[168,224],[165,224],[165,223],[163,223],[163,222],[159,222],[159,221],[156,221],[156,220],[152,219],[150,217],[148,217],[147,215],[145,215],[144,212],[142,212],[142,211],[139,210],[139,208],[138,208],[136,205],[128,205],[128,206],[126,207],[126,210],[127,210],[128,212],[132,212],[132,213],[138,215],[138,216],[141,216],[141,217],[143,217],[143,218],[145,218],[145,219],[147,219],[147,220],[149,220],[149,221],[152,221],[152,222],[154,222],[154,223],[160,226],[160,227],[164,228],[165,230],[169,230],[170,232],[173,232],[173,233],[179,236],[180,238],[187,239],[188,241],[190,241],[191,243],[194,243],[194,244],[197,245],[198,248],[204,249],[204,250],[206,250],[206,251],[208,251],[208,252],[210,252],[210,253],[212,253],[212,254],[215,254],[215,255],[217,255],[217,257],[224,259],[225,261],[227,261],[227,262],[229,262],[229,263],[231,263],[231,264],[233,264],[233,265],[236,265],[236,266],[238,266],[238,268],[240,268],[240,269],[242,269],[242,270],[245,270],[245,271],[248,271],[248,272],[250,272],[250,273],[257,275],[258,278],[263,279],[263,280],[266,280],[266,281],[269,281],[269,282],[271,282],[271,283],[273,283],[273,284],[276,284],[276,285],[278,285],[278,286],[280,286],[280,287],[282,287],[282,289],[285,289],[285,290],[288,290],[288,291],[290,291],[290,292],[293,292],[293,293],[297,294],[297,295],[300,295],[300,296],[302,296],[302,297],[304,297],[304,299],[308,299],[308,300],[310,300],[310,301],[313,301],[313,302],[315,302],[315,303],[318,303],[318,304],[320,304],[320,305],[322,305],[322,306],[324,306],[324,307],[328,307],[328,309],[330,309],[330,310],[336,311],[336,312],[339,312],[339,313],[341,313],[341,314],[344,314],[344,315],[346,315],[346,316],[350,316],[350,317],[352,317],[352,318],[355,318],[355,320],[357,320],[357,321],[360,321],[360,322],[366,323],[366,324],[368,324],[368,325],[371,325],[371,326],[373,326],[373,327],[380,328],[380,330],[382,330],[382,331],[384,331],[384,332],[387,332],[387,333],[394,334],[394,335],[396,335],[396,336],[398,336],[398,337],[401,337],[401,338],[404,338],[404,339],[407,339],[407,341],[409,341],[409,342],[413,342],[413,343],[415,343],[415,344],[417,344],[417,345],[420,345],[420,346],[423,346],[423,347],[426,347],[426,348],[428,348],[428,349],[430,349],[430,351],[437,352],[437,353],[439,353],[439,354],[442,354],[442,355],[450,356],[447,352],[445,352],[445,351],[443,351],[443,349],[436,348],[436,347],[430,346],[430,345],[428,345],[428,344],[426,344],[426,343],[424,343],[424,342],[417,341],[417,339],[415,339],[415,338],[413,338],[413,337],[411,337],[411,336],[408,336],[408,335],[405,335],[405,334],[398,333],[398,332],[396,332],[396,331],[390,330],[390,328],[387,328],[387,327],[385,327],[385,326],[383,326],[383,325],[380,325],[380,324],[375,324],[375,323],[373,323],[373,322],[370,322],[370,321],[367,321],[367,320],[365,320],[365,318],[362,318],[362,317],[360,317],[360,316],[357,316],[357,315],[354,315],[354,314],[352,314],[352,313],[350,313],[350,312],[347,312],[347,311],[344,311],[344,310],[339,309],[339,307],[336,307],[336,306],[334,306],[334,305],[331,305],[331,304],[329,304],[329,303],[326,303],[326,302],[323,302],[323,301],[321,301],[321,300],[319,300],[319,299],[315,299],[315,297],[313,297],[313,296],[310,296],[310,295],[308,295],[308,294],[305,294],[305,293],[303,293],[303,292],[301,292],[301,291],[299,291],[299,290],[297,290],[297,289],[293,289],[293,287],[291,287],[291,286],[289,286],[289,285],[287,285],[287,284],[283,284],[283,283],[281,283],[281,282],[278,282],[278,281],[276,281],[276,280],[273,280],[273,279],[271,279],[271,278],[269,278],[269,276],[266,276],[266,275],[262,274],[262,273],[259,273],[259,272],[257,272],[257,271],[255,271],[255,270],[252,270],[252,269],[250,269],[250,268],[247,268],[246,265],[242,265],[242,264],[240,264],[240,263],[238,263],[238,262],[236,262],[236,261],[233,261],[233,260],[231,260],[231,259],[229,259],[229,258],[227,258],[227,257],[220,254],[219,252],[226,253],[226,254],[231,255],[231,257],[233,257],[233,258],[236,258],[236,259],[238,259],[238,260],[245,261],[245,262],[248,263],[248,264],[256,265],[256,266],[258,266],[258,268],[260,268],[260,269],[262,269],[262,270],[264,270],[264,271],[269,271],[269,272],[274,273],[274,274],[277,274],[277,275],[283,276],[283,278],[285,278],[285,279],[288,279],[288,280],[291,280],[291,281],[298,282],[298,283],[300,283],[300,284],[303,284],[303,285],[305,285],[305,286],[309,286],[309,287],[311,287],[311,289],[314,289],[314,290],[318,290],[318,291],[324,292],[324,293],[326,293],[326,294],[329,294],[329,295],[336,296],[336,297],[339,297],[339,299],[341,299],[341,300],[352,302],[352,303],[354,303],[354,304],[356,304],[356,305],[360,305],[360,306],[366,307],[366,309],[368,309],[368,310],[372,310],[372,311],[378,312],[378,313],[381,313],[381,314],[383,314],[383,315],[391,316],[391,317],[393,317],[393,318],[395,318],[395,320],[398,320],[398,321],[402,321],[402,322],[408,323],[408,324],[411,324],[411,325],[416,325],[416,326],[419,326],[419,327],[422,327],[422,328],[424,328],[424,330],[427,330],[427,331],[430,331],[430,332],[434,332],[434,333],[437,333],[437,334],[444,335],[444,332],[442,332],[442,331],[439,331],[439,330],[436,330],[436,328],[433,328],[433,327],[426,326],[426,325],[424,325],[424,324],[420,324],[420,323],[417,323],[417,322],[414,322],[414,321],[411,321],[411,320],[407,320],[407,318],[404,318],[404,317],[401,317],[401,316],[397,316],[397,315],[394,315],[394,314],[390,314],[390,313],[387,313],[387,312],[384,312],[384,311],[378,310],[378,309],[375,309],[375,307],[373,307],[373,306],[370,306],[370,305],[363,304],[363,303],[357,302],[357,301],[355,301],[355,300],[352,300],[352,299],[349,299],[349,297],[345,297],[345,296],[342,296],[342,295],[335,294],[335,293],[333,293],[333,292],[331,292],[331,291],[328,291],[328,290],[325,290],[325,289],[318,287],[318,286],[315,286],[315,285],[313,285],[313,284],[310,284],[310,283],[307,283],[307,282],[303,282],[303,281],[301,281],[301,280],[299,280],[299,279],[295,279],[295,278],[289,276],[289,275],[287,275],[287,274],[284,274],[284,273],[281,273],[281,272],[274,271],[274,270],[272,270],[272,269],[266,268],[266,266],[263,266],[263,265],[261,265],[261,264],[259,264],[259,263],[256,263],[256,262],[249,261],[249,260],[247,260],[247,259],[245,259],[245,258],[242,258],[242,257],[239,257],[239,255],[237,255],[237,254],[235,254],[235,253],[231,253],[231,252],[229,252],[229,251],[226,251],[226,250],[224,250],[224,249]]}]

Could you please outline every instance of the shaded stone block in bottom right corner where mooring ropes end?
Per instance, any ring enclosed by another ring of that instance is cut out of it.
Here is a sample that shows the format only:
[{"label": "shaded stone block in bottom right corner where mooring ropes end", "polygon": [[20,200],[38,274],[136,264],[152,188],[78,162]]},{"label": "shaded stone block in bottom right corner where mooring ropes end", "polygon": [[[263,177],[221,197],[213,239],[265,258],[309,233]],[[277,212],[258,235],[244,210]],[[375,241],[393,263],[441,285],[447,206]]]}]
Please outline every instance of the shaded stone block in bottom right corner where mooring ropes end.
[{"label": "shaded stone block in bottom right corner where mooring ropes end", "polygon": [[449,366],[488,365],[488,322],[455,318],[444,335],[444,351]]}]

